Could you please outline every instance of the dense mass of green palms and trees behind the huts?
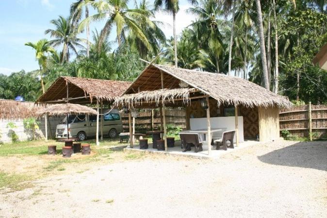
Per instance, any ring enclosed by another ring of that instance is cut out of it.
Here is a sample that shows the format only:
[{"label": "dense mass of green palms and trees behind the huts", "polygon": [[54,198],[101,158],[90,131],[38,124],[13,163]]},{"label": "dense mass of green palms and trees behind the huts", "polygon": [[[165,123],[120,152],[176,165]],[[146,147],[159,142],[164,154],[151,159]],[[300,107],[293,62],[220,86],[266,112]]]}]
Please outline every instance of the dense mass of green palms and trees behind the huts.
[{"label": "dense mass of green palms and trees behind the huts", "polygon": [[[179,0],[75,0],[69,17],[49,22],[49,40],[26,43],[39,69],[0,75],[0,98],[33,101],[61,75],[132,81],[144,59],[240,77],[290,100],[327,102],[327,72],[312,64],[327,43],[326,0],[187,2],[194,20],[177,34]],[[163,33],[159,11],[171,15],[173,35]],[[100,20],[103,28],[90,30]]]}]

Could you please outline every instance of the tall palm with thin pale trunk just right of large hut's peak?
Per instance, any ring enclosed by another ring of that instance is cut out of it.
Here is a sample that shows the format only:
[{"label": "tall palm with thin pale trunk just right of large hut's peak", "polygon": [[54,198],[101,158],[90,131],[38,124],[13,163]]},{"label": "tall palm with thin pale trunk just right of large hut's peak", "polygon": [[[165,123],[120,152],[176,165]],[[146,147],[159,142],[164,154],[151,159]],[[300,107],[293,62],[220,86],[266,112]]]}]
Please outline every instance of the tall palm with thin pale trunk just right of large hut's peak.
[{"label": "tall palm with thin pale trunk just right of large hut's peak", "polygon": [[[191,4],[197,4],[196,0],[188,0]],[[176,14],[180,10],[179,0],[155,0],[154,9],[163,11],[173,15],[173,35],[174,35],[174,57],[175,57],[175,67],[178,67],[177,60],[177,36],[176,36]]]}]

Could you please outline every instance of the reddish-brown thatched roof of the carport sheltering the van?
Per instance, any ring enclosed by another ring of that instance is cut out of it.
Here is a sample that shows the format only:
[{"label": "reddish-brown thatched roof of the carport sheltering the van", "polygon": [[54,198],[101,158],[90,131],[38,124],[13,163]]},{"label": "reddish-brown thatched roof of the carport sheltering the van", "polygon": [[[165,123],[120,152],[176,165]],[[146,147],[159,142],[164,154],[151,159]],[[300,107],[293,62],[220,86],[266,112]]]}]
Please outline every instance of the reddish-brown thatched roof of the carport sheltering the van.
[{"label": "reddish-brown thatched roof of the carport sheltering the van", "polygon": [[92,103],[96,100],[113,101],[124,93],[131,82],[61,76],[36,102],[63,102],[67,98],[66,85],[69,102]]}]

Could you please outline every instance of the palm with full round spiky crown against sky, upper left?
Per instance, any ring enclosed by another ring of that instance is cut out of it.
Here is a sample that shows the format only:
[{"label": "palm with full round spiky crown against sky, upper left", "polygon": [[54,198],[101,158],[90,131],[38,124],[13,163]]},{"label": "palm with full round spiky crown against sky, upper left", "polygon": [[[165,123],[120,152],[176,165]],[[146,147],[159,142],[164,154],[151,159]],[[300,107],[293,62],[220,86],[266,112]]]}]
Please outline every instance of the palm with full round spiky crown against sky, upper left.
[{"label": "palm with full round spiky crown against sky, upper left", "polygon": [[58,19],[51,20],[50,23],[55,26],[55,29],[48,29],[45,31],[45,34],[50,34],[50,36],[55,39],[49,41],[49,44],[54,47],[63,45],[61,61],[63,62],[66,60],[69,62],[69,49],[72,49],[75,54],[78,55],[76,47],[83,48],[84,46],[82,46],[80,42],[85,40],[77,37],[79,31],[69,18],[65,19],[59,16]]}]

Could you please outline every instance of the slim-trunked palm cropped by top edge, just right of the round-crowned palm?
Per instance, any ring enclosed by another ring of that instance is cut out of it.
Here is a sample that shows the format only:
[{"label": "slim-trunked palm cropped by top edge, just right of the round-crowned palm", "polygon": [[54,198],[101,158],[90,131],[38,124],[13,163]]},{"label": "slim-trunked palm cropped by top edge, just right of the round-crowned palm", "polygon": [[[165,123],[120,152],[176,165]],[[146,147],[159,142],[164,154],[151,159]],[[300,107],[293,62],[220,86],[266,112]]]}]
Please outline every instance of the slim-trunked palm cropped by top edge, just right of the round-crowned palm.
[{"label": "slim-trunked palm cropped by top edge, just right of the round-crowned palm", "polygon": [[[94,0],[77,0],[70,5],[70,16],[73,19],[73,23],[78,23],[81,21],[83,9],[85,7],[85,18],[89,17],[88,4]],[[86,24],[86,56],[90,56],[90,25]]]}]

